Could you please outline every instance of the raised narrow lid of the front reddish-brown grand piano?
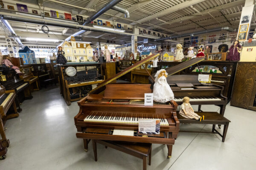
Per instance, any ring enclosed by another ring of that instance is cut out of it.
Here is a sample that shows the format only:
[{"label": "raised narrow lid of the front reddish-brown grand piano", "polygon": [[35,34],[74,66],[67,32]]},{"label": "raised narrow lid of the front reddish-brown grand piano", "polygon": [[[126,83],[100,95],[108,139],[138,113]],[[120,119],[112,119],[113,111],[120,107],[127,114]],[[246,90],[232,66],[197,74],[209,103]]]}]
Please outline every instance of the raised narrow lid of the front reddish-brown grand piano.
[{"label": "raised narrow lid of the front reddish-brown grand piano", "polygon": [[121,72],[117,73],[116,75],[106,79],[104,82],[99,83],[99,85],[96,88],[94,88],[93,90],[91,90],[88,94],[92,94],[93,92],[99,90],[100,88],[103,88],[105,85],[113,82],[113,80],[116,80],[119,77],[122,77],[123,75],[127,74],[128,72],[133,71],[135,68],[139,67],[140,65],[145,64],[146,62],[150,61],[151,59],[154,59],[155,57],[158,57],[159,55],[160,54],[152,54],[152,55],[146,57],[145,59],[143,59],[139,62],[136,62],[134,65],[131,65],[130,67],[125,68],[123,71],[121,71]]}]

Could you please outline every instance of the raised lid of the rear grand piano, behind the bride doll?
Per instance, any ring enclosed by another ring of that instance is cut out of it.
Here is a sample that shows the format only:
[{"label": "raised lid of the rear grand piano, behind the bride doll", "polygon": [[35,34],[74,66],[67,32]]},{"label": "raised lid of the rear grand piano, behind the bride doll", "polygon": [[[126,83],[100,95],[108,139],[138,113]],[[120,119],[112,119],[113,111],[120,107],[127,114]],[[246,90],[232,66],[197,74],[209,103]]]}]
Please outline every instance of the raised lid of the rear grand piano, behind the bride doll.
[{"label": "raised lid of the rear grand piano, behind the bride doll", "polygon": [[[166,72],[168,73],[168,77],[173,75],[173,74],[175,74],[175,73],[178,73],[178,72],[180,72],[180,71],[182,71],[182,70],[184,70],[184,69],[186,69],[186,68],[188,68],[188,67],[190,67],[192,65],[195,65],[198,62],[203,61],[204,59],[205,59],[205,57],[192,58],[192,59],[190,59],[188,61],[182,62],[182,63],[180,63],[178,65],[175,65],[175,66],[172,66],[170,68],[167,68]],[[154,77],[155,74],[156,73],[151,74],[151,76]],[[148,79],[149,79],[149,81],[151,83],[154,83],[154,81],[151,79],[151,77],[148,77]]]}]

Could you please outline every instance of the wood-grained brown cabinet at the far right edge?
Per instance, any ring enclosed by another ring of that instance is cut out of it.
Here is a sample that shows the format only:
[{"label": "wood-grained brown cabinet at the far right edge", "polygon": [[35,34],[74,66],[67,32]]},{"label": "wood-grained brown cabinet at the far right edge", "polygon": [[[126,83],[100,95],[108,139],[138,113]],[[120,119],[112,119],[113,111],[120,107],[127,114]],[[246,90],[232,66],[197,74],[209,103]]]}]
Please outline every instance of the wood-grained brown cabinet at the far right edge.
[{"label": "wood-grained brown cabinet at the far right edge", "polygon": [[256,62],[238,62],[230,105],[256,111]]}]

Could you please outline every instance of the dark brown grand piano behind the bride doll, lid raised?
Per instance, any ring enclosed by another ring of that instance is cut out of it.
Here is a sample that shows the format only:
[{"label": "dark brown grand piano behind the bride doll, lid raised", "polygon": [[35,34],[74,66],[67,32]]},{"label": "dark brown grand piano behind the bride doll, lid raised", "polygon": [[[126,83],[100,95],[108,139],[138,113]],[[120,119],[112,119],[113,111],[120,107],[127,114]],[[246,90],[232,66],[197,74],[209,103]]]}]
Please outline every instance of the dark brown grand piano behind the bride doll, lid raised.
[{"label": "dark brown grand piano behind the bride doll, lid raised", "polygon": [[[193,58],[179,65],[167,68],[168,77],[166,80],[172,88],[175,97],[174,100],[178,105],[183,103],[183,97],[188,96],[191,105],[198,105],[198,111],[201,111],[201,105],[217,105],[220,107],[220,114],[224,116],[227,105],[227,97],[222,95],[224,87],[212,83],[200,83],[198,81],[198,75],[173,75],[202,60],[204,58]],[[154,77],[154,74],[151,76]],[[148,77],[148,79],[151,84],[154,84],[151,77]]]}]

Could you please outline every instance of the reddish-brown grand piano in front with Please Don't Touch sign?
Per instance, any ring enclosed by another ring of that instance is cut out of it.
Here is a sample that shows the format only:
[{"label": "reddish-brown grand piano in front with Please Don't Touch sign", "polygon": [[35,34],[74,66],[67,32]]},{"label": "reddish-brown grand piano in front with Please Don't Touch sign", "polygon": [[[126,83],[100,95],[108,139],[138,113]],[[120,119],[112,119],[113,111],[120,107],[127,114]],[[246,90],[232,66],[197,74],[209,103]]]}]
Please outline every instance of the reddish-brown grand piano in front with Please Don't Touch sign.
[{"label": "reddish-brown grand piano in front with Please Don't Touch sign", "polygon": [[[179,132],[175,101],[154,102],[144,106],[144,94],[151,93],[150,85],[113,83],[113,80],[134,70],[159,54],[151,55],[100,83],[97,88],[78,102],[79,113],[75,116],[77,138],[84,139],[87,151],[90,139],[167,144],[168,158]],[[138,119],[160,119],[160,134],[138,133]],[[113,130],[134,130],[133,136],[113,135]]]}]

